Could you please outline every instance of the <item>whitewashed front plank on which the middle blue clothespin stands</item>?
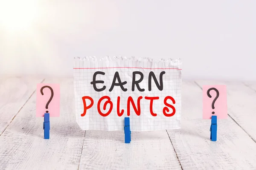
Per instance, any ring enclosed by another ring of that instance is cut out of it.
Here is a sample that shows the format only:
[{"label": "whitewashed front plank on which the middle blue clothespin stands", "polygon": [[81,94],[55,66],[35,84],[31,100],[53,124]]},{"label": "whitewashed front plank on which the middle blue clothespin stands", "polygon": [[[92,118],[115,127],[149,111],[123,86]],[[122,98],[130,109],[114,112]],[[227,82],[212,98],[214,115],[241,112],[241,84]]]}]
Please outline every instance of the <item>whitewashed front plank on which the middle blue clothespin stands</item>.
[{"label": "whitewashed front plank on which the middle blue clothespin stands", "polygon": [[87,130],[81,155],[82,170],[180,170],[165,130],[132,132]]}]

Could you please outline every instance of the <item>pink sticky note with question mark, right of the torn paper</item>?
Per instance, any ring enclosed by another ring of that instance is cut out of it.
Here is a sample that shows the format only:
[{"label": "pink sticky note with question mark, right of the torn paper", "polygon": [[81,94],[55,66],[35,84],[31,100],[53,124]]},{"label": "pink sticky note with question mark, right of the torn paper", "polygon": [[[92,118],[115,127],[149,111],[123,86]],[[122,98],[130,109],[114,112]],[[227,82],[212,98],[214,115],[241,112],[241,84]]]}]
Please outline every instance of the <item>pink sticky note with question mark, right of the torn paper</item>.
[{"label": "pink sticky note with question mark, right of the torn paper", "polygon": [[[209,95],[207,95],[209,91]],[[214,109],[212,108],[213,101]],[[213,114],[214,112],[214,114]],[[217,119],[227,119],[227,89],[226,85],[204,85],[203,86],[203,119],[211,119],[212,116],[217,116]]]}]

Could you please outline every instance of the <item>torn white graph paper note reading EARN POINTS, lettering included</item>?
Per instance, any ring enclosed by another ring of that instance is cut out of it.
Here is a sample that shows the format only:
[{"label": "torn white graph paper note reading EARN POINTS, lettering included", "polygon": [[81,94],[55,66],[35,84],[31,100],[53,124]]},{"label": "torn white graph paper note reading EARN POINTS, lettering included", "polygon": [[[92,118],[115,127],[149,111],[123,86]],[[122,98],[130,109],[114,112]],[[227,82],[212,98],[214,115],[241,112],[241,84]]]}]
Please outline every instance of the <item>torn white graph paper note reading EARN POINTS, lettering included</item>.
[{"label": "torn white graph paper note reading EARN POINTS, lettering included", "polygon": [[75,58],[76,121],[82,130],[180,128],[181,61],[125,57]]}]

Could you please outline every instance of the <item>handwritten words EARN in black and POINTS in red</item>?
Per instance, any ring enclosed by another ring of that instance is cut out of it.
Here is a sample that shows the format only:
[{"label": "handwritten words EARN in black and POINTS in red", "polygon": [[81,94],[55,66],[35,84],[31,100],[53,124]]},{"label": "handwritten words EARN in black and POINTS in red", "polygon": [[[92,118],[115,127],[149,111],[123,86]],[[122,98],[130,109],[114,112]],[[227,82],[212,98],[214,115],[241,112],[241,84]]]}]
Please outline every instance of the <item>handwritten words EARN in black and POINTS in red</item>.
[{"label": "handwritten words EARN in black and POINTS in red", "polygon": [[[102,88],[97,88],[96,87],[96,84],[98,84],[98,83],[104,84],[103,80],[96,80],[96,76],[98,74],[105,75],[105,73],[102,72],[102,71],[96,71],[93,74],[93,81],[90,82],[90,84],[93,85],[93,89],[95,91],[101,92],[101,91],[104,91],[106,89],[106,86],[103,85]],[[163,91],[163,74],[165,74],[165,71],[162,71],[160,73],[160,83],[158,83],[157,78],[156,78],[156,76],[155,76],[153,71],[151,71],[148,74],[148,91],[151,91],[151,80],[152,80],[152,78],[154,79],[155,85],[157,86],[158,90],[159,91]],[[139,80],[135,80],[136,75],[140,75],[140,79]],[[117,82],[116,82],[116,80],[117,80]],[[144,88],[140,88],[140,85],[139,85],[139,83],[142,82],[142,81],[143,81],[143,73],[140,72],[140,71],[134,71],[133,72],[133,76],[132,76],[131,91],[135,90],[135,85],[136,85],[136,87],[137,87],[137,89],[139,91],[141,91],[141,92],[145,91],[145,89]],[[127,83],[126,81],[124,81],[124,82],[121,81],[119,73],[118,73],[118,71],[116,71],[115,74],[114,74],[113,81],[112,81],[112,84],[111,84],[111,87],[110,87],[109,91],[110,92],[113,91],[113,88],[115,86],[120,86],[122,91],[125,92],[125,91],[127,91],[127,88],[124,87],[124,85],[126,83]],[[154,96],[154,97],[145,96],[144,98],[147,99],[147,100],[150,100],[149,110],[150,110],[151,115],[152,116],[157,116],[157,113],[153,112],[153,101],[159,99],[159,96]],[[90,105],[87,105],[86,99],[90,100]],[[105,103],[103,105],[103,110],[105,111],[107,105],[108,104],[110,105],[110,108],[109,108],[107,113],[102,113],[101,108],[100,108],[100,104],[101,104],[102,100],[104,100],[104,99],[107,99],[107,100],[105,101]],[[143,99],[143,96],[139,96],[138,97],[138,99],[137,99],[137,107],[136,107],[136,105],[134,103],[134,99],[131,96],[128,97],[128,100],[127,100],[127,116],[130,116],[130,105],[132,105],[132,107],[133,107],[135,113],[137,114],[137,116],[140,116],[140,100],[141,99]],[[167,103],[168,99],[170,99],[173,104],[175,104],[175,99],[172,96],[166,96],[164,98],[164,102],[163,103],[167,107],[163,107],[163,115],[167,116],[167,117],[170,117],[170,116],[173,116],[175,114],[176,110],[175,110],[175,107],[173,105]],[[93,99],[90,96],[83,96],[82,100],[83,100],[83,104],[84,104],[84,113],[82,113],[81,116],[85,116],[87,110],[90,109],[93,106],[94,101],[93,101]],[[116,111],[117,111],[117,115],[118,116],[122,116],[124,114],[124,110],[121,109],[121,111],[120,111],[120,106],[119,105],[120,105],[120,96],[117,96]],[[168,113],[169,112],[169,108],[168,107],[172,108],[172,113]],[[98,110],[98,112],[99,112],[99,114],[101,116],[108,116],[111,113],[111,111],[113,110],[113,102],[111,101],[111,98],[109,96],[102,96],[99,99],[98,103],[97,103],[97,110]]]}]

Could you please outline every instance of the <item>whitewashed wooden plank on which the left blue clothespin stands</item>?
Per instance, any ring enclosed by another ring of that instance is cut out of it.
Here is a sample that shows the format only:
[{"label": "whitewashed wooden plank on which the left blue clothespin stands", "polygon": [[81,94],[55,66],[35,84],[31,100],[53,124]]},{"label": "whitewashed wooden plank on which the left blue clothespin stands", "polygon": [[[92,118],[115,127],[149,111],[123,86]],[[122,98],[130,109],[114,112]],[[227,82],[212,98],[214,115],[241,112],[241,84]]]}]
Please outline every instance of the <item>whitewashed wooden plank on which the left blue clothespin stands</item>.
[{"label": "whitewashed wooden plank on which the left blue clothespin stands", "polygon": [[85,131],[76,123],[73,79],[45,82],[61,84],[61,116],[50,118],[50,139],[44,139],[44,118],[35,117],[33,94],[0,136],[1,170],[78,169]]}]

